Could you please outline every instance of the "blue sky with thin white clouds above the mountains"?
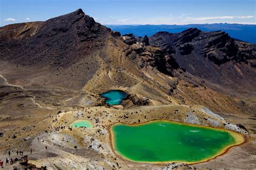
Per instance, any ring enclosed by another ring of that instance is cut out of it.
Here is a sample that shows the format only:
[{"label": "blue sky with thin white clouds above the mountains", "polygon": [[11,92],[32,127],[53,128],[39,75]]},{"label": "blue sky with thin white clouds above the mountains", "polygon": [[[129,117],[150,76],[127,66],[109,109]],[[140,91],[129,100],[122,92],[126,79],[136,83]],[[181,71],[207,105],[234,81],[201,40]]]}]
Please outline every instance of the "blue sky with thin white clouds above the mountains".
[{"label": "blue sky with thin white clouds above the mountains", "polygon": [[83,9],[101,24],[256,24],[256,0],[0,0],[0,26]]}]

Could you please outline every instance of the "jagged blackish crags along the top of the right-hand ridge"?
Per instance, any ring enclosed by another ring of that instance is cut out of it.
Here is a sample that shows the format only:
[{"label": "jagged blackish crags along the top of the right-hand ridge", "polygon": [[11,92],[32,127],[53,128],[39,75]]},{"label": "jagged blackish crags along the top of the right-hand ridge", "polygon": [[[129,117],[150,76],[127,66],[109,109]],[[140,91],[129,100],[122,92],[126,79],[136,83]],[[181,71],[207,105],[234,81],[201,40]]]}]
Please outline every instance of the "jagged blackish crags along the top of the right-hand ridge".
[{"label": "jagged blackish crags along the top of the right-hand ridge", "polygon": [[203,32],[193,28],[181,33],[158,32],[150,38],[150,44],[176,54],[177,59],[193,55],[218,66],[230,61],[248,63],[256,58],[256,45],[234,40],[223,31]]}]

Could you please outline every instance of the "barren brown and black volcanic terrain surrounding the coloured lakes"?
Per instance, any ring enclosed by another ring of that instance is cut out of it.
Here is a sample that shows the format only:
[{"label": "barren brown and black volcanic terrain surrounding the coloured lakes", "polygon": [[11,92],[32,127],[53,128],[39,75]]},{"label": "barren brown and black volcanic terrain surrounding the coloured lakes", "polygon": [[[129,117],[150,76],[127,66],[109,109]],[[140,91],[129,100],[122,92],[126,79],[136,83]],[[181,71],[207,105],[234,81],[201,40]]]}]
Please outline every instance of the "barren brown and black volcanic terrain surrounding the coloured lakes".
[{"label": "barren brown and black volcanic terrain surrounding the coloured lakes", "polygon": [[[78,9],[45,22],[3,26],[0,49],[0,159],[23,151],[29,161],[15,164],[19,168],[256,166],[255,44],[196,28],[122,36]],[[121,105],[100,97],[109,90],[127,93]],[[69,125],[81,119],[93,128],[71,131]],[[110,126],[151,120],[224,128],[247,141],[196,165],[119,157]]]}]

